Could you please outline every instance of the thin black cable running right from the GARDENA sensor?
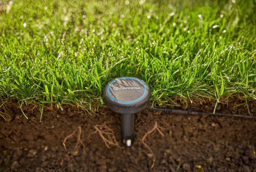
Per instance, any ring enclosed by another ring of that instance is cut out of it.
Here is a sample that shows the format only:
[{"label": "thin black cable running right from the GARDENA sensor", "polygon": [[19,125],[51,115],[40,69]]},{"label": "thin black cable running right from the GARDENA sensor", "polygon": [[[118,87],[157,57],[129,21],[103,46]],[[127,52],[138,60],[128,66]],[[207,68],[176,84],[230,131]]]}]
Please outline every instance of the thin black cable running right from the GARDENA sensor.
[{"label": "thin black cable running right from the GARDENA sensor", "polygon": [[169,114],[176,114],[176,115],[218,115],[218,116],[233,116],[233,117],[242,117],[242,118],[256,118],[256,116],[244,116],[244,115],[231,115],[231,114],[222,114],[222,113],[207,113],[207,112],[200,112],[200,111],[195,111],[195,110],[190,110],[188,109],[173,109],[173,108],[152,108],[150,106],[147,106],[149,109],[153,110],[160,110],[163,111],[164,113],[169,113]]}]

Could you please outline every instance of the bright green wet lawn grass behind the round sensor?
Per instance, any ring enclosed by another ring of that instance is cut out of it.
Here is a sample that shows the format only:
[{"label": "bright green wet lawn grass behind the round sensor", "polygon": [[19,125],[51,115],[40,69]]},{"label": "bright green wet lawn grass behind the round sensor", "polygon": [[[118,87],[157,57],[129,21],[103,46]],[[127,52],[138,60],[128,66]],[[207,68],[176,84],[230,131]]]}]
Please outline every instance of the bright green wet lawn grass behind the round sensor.
[{"label": "bright green wet lawn grass behind the round sensor", "polygon": [[255,2],[6,1],[0,108],[13,100],[42,114],[49,103],[93,109],[120,76],[148,83],[153,104],[256,99]]}]

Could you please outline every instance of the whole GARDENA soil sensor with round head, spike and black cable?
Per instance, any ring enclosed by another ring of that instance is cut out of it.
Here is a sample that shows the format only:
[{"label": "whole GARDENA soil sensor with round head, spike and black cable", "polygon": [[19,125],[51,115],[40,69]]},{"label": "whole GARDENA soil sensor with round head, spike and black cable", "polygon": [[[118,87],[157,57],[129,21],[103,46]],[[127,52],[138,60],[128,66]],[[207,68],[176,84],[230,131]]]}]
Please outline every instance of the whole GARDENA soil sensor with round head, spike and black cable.
[{"label": "whole GARDENA soil sensor with round head, spike and black cable", "polygon": [[134,114],[149,108],[176,115],[218,115],[256,118],[256,116],[231,115],[221,113],[205,113],[188,109],[152,108],[148,106],[150,89],[141,79],[135,77],[119,77],[110,81],[103,91],[104,102],[109,109],[121,114],[121,133],[123,143],[132,146],[134,131]]}]

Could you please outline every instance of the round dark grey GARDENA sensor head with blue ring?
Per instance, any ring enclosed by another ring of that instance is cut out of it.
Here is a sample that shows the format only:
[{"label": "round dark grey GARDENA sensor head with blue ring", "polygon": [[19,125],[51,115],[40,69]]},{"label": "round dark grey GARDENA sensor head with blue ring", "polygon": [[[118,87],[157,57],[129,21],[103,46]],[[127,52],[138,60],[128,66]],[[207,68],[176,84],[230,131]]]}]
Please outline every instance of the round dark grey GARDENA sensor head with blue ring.
[{"label": "round dark grey GARDENA sensor head with blue ring", "polygon": [[133,114],[146,108],[150,89],[141,79],[119,77],[104,88],[104,102],[111,110],[120,114]]}]

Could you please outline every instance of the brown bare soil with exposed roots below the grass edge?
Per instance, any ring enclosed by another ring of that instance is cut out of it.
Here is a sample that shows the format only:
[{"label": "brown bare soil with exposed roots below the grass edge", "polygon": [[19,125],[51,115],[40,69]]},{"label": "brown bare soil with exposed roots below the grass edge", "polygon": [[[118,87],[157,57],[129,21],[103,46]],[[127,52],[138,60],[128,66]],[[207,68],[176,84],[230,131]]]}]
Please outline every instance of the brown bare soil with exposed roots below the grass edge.
[{"label": "brown bare soil with exposed roots below the grass edge", "polygon": [[[243,103],[218,104],[216,111],[249,115]],[[255,101],[248,104],[256,116]],[[212,112],[214,105],[195,101],[188,108]],[[0,117],[0,171],[256,171],[256,119],[144,109],[135,115],[134,143],[125,147],[120,116],[107,108],[92,115],[71,106],[45,109],[41,123],[36,108],[24,111],[28,120],[9,109],[11,121]]]}]

